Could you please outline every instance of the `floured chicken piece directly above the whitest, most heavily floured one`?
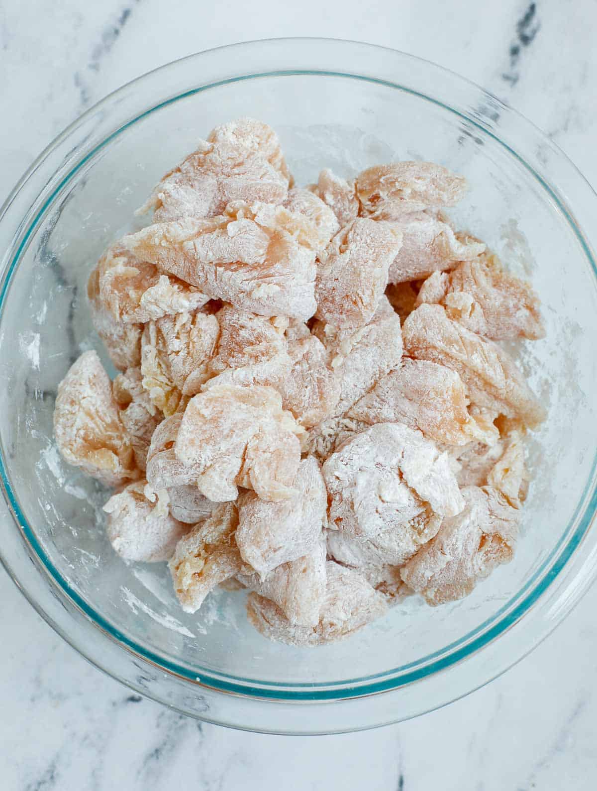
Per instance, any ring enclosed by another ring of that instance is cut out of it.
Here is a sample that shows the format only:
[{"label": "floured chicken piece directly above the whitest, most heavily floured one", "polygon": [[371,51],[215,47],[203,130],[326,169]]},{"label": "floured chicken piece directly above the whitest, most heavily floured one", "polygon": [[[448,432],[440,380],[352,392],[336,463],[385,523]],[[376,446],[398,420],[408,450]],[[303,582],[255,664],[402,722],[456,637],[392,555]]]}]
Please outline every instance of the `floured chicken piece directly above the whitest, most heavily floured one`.
[{"label": "floured chicken piece directly above the whitest, most heavily floured one", "polygon": [[467,393],[458,373],[427,360],[402,361],[364,395],[347,415],[368,425],[404,423],[444,445],[467,445],[472,439],[497,441],[492,426],[478,426],[467,411]]}]

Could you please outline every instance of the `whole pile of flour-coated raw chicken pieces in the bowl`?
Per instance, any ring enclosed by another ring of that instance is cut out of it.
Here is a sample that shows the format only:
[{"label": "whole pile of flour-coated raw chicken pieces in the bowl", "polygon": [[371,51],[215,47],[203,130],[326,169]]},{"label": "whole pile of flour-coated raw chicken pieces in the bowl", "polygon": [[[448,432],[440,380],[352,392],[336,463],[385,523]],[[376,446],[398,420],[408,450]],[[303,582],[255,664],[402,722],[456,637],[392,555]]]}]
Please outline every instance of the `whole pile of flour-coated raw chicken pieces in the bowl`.
[{"label": "whole pile of flour-coated raw chicken pieces in the bowl", "polygon": [[531,286],[442,214],[466,187],[418,161],[296,187],[274,131],[239,119],[96,264],[120,373],[81,354],[55,439],[114,488],[115,551],[168,561],[184,611],[248,589],[259,632],[319,645],[512,558],[544,412],[499,343],[544,332]]}]

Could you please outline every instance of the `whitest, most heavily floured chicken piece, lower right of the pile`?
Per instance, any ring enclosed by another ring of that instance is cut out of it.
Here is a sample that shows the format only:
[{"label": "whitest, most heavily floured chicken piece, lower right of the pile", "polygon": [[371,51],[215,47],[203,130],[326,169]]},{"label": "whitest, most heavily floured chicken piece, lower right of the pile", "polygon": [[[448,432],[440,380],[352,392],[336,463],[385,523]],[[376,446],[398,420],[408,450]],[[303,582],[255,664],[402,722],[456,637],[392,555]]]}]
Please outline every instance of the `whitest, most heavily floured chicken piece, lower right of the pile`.
[{"label": "whitest, most heavily floured chicken piece, lower right of the pile", "polygon": [[447,454],[402,423],[380,423],[355,435],[322,471],[331,527],[351,536],[374,539],[399,530],[425,513],[425,503],[442,517],[463,509]]}]

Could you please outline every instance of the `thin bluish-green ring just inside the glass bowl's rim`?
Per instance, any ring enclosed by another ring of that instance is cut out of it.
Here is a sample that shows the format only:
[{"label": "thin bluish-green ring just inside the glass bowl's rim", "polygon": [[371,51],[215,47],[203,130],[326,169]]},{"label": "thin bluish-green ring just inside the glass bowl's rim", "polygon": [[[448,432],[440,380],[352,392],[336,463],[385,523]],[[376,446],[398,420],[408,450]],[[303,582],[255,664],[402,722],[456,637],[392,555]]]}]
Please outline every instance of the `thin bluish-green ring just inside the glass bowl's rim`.
[{"label": "thin bluish-green ring just inside the glass bowl's rim", "polygon": [[[184,91],[183,93],[179,93],[174,97],[169,97],[168,99],[154,105],[152,108],[149,108],[148,110],[139,113],[133,119],[127,121],[127,123],[124,123],[121,127],[119,127],[117,130],[109,134],[106,138],[104,138],[104,140],[102,140],[100,143],[94,146],[93,149],[91,149],[88,153],[86,153],[84,157],[81,157],[81,160],[77,162],[77,165],[74,165],[74,167],[70,168],[70,171],[66,174],[66,176],[64,176],[59,181],[59,184],[51,191],[51,194],[43,202],[43,205],[40,207],[40,210],[38,210],[35,218],[33,218],[28,229],[25,231],[23,239],[21,240],[21,244],[19,244],[17,248],[17,252],[15,252],[13,256],[13,260],[9,264],[9,267],[7,268],[6,276],[2,284],[2,291],[0,292],[0,316],[2,315],[3,312],[6,295],[9,290],[9,285],[12,280],[13,273],[14,271],[16,271],[18,261],[21,258],[21,255],[24,252],[28,244],[28,241],[32,237],[32,233],[36,229],[36,226],[40,223],[41,218],[46,213],[47,209],[51,206],[51,204],[54,202],[56,196],[62,190],[62,187],[64,187],[73,178],[73,176],[85,165],[86,162],[88,162],[90,159],[95,157],[96,153],[98,153],[105,146],[108,146],[110,142],[112,142],[115,138],[119,136],[119,134],[122,134],[124,131],[127,130],[127,128],[134,125],[134,123],[138,123],[139,121],[150,115],[151,113],[157,112],[161,108],[167,107],[169,104],[172,104],[176,101],[183,100],[187,97],[191,97],[197,93],[202,93],[203,91],[209,89],[221,87],[223,85],[229,85],[231,83],[235,83],[239,81],[258,79],[258,78],[288,77],[288,76],[338,77],[338,78],[357,79],[361,81],[372,82],[378,85],[384,85],[385,87],[398,89],[400,91],[403,91],[404,93],[410,93],[411,95],[414,95],[425,101],[428,101],[431,104],[436,104],[440,108],[443,108],[445,111],[452,113],[452,115],[456,115],[459,118],[466,121],[467,123],[470,123],[472,126],[477,127],[480,131],[482,131],[482,133],[488,135],[489,138],[493,138],[493,140],[497,142],[499,146],[506,149],[508,153],[510,153],[513,157],[515,157],[516,160],[519,161],[520,164],[523,165],[523,167],[527,169],[527,171],[530,172],[531,175],[534,176],[536,180],[538,180],[539,184],[541,184],[543,189],[548,193],[548,195],[550,195],[551,199],[554,200],[558,209],[561,211],[561,213],[568,221],[572,229],[572,232],[579,240],[582,248],[584,249],[585,255],[587,256],[589,263],[591,264],[591,268],[594,274],[597,274],[597,266],[595,266],[595,259],[591,253],[591,248],[588,246],[588,243],[586,242],[584,235],[580,233],[580,229],[576,224],[576,221],[574,221],[571,214],[569,214],[569,211],[566,209],[565,205],[561,202],[561,199],[559,198],[557,193],[552,189],[552,187],[550,187],[550,184],[548,184],[542,178],[542,176],[540,176],[538,172],[535,171],[535,168],[532,168],[531,165],[528,165],[528,163],[523,159],[523,157],[521,157],[518,153],[516,153],[516,151],[512,149],[511,146],[508,146],[507,143],[505,143],[500,138],[498,138],[496,134],[494,134],[486,126],[482,125],[482,123],[479,123],[474,119],[471,119],[468,115],[459,112],[455,108],[451,108],[448,104],[445,104],[440,100],[436,100],[434,97],[429,97],[425,93],[415,91],[414,89],[406,88],[405,86],[399,85],[389,80],[370,78],[360,74],[350,74],[350,73],[330,71],[330,70],[274,70],[268,72],[259,72],[256,74],[240,75],[238,77],[217,81],[211,83],[210,85],[202,85],[199,86],[198,88],[190,89]],[[470,85],[472,86],[471,83]],[[478,90],[482,90],[482,89],[478,89]],[[522,118],[522,116],[520,117]],[[348,694],[346,695],[338,694],[338,692],[336,691],[327,690],[327,689],[321,690],[319,692],[315,692],[315,691],[299,692],[293,690],[281,692],[274,689],[269,690],[264,688],[267,686],[279,687],[281,686],[280,684],[256,681],[255,679],[241,679],[241,678],[236,678],[236,681],[242,682],[240,684],[229,683],[211,675],[211,672],[207,670],[206,672],[202,672],[199,669],[198,672],[197,671],[191,672],[187,668],[183,668],[182,666],[170,660],[164,659],[164,657],[159,657],[157,654],[154,654],[148,649],[145,649],[144,647],[138,645],[133,640],[130,640],[130,638],[127,638],[127,636],[122,634],[119,630],[115,629],[115,627],[112,626],[111,623],[109,623],[106,619],[104,619],[103,616],[96,613],[96,611],[93,610],[93,607],[89,607],[89,605],[85,602],[85,600],[83,600],[81,596],[77,594],[77,592],[75,592],[73,589],[70,588],[70,585],[66,583],[66,581],[62,578],[62,575],[58,572],[58,570],[55,569],[55,566],[47,557],[47,554],[43,551],[43,548],[41,547],[40,543],[37,541],[35,534],[32,532],[32,529],[29,527],[28,520],[25,519],[25,515],[22,512],[20,505],[18,505],[17,498],[13,494],[12,486],[9,483],[9,477],[7,475],[6,467],[7,465],[5,465],[4,451],[3,448],[0,448],[0,476],[2,477],[3,489],[5,490],[6,498],[9,500],[9,505],[11,511],[13,512],[13,517],[20,525],[22,532],[25,534],[25,539],[32,546],[33,551],[35,551],[37,557],[40,558],[40,561],[42,562],[44,568],[50,573],[50,576],[53,578],[55,583],[59,585],[59,587],[66,593],[66,595],[69,596],[73,604],[77,606],[88,619],[90,619],[97,626],[100,626],[100,628],[104,630],[106,634],[108,634],[108,636],[111,636],[111,638],[115,639],[119,643],[123,643],[124,645],[127,645],[128,648],[132,651],[132,653],[137,654],[141,657],[145,657],[146,660],[148,660],[152,664],[157,664],[158,667],[166,668],[170,670],[170,672],[175,673],[176,675],[183,676],[183,678],[198,683],[200,683],[199,679],[201,679],[201,676],[203,675],[205,677],[206,682],[208,681],[208,679],[211,682],[208,683],[206,686],[215,687],[217,689],[221,689],[222,691],[231,691],[245,695],[248,694],[251,697],[255,697],[255,698],[271,697],[278,699],[323,700],[323,699],[352,698],[355,696],[361,697],[362,695],[365,694],[374,694],[376,692],[388,691],[391,689],[402,687],[407,683],[412,683],[415,680],[420,680],[421,678],[425,678],[429,675],[432,675],[435,672],[439,672],[440,670],[451,666],[452,664],[455,664],[456,662],[463,660],[464,658],[470,657],[473,653],[475,653],[483,646],[487,645],[489,642],[495,639],[498,634],[501,634],[502,631],[512,626],[512,624],[515,623],[516,620],[520,619],[520,617],[524,614],[524,612],[526,612],[529,609],[529,607],[531,607],[532,604],[535,603],[538,597],[541,596],[543,592],[545,592],[545,590],[549,587],[551,582],[553,582],[555,577],[557,577],[557,574],[565,566],[565,562],[568,561],[570,555],[576,550],[576,547],[580,543],[580,540],[584,537],[584,534],[587,532],[588,527],[591,524],[591,520],[594,515],[595,508],[597,507],[597,500],[595,498],[595,492],[594,492],[593,497],[589,501],[589,504],[586,506],[586,508],[589,509],[589,505],[590,505],[593,509],[593,513],[584,514],[584,518],[583,520],[581,520],[581,524],[579,525],[578,528],[576,528],[576,532],[570,538],[568,545],[565,547],[565,551],[562,553],[561,557],[558,558],[558,562],[554,564],[554,568],[550,570],[550,574],[548,575],[548,577],[542,580],[542,582],[537,586],[535,591],[531,593],[531,596],[528,596],[527,600],[523,600],[518,605],[516,605],[514,610],[511,613],[509,613],[503,620],[501,620],[499,623],[494,624],[494,626],[491,627],[491,629],[489,629],[488,631],[486,631],[485,634],[479,636],[473,641],[467,642],[462,649],[459,649],[458,651],[454,651],[453,653],[450,653],[448,657],[444,657],[440,660],[437,660],[434,663],[429,664],[429,660],[433,659],[433,657],[436,657],[438,654],[444,654],[452,650],[452,648],[457,645],[463,645],[463,643],[466,642],[471,636],[474,636],[475,634],[478,634],[478,632],[486,629],[486,627],[489,626],[491,623],[495,622],[495,620],[498,619],[500,615],[503,614],[504,611],[508,609],[508,607],[511,607],[512,604],[516,602],[516,600],[520,599],[520,596],[523,596],[523,594],[527,592],[527,590],[531,587],[531,585],[538,579],[540,574],[546,570],[546,567],[554,558],[554,555],[561,550],[561,547],[565,542],[565,539],[569,535],[569,532],[572,530],[572,525],[576,521],[582,505],[577,506],[574,516],[570,520],[569,525],[566,528],[565,532],[562,534],[561,539],[554,547],[554,550],[550,553],[550,555],[546,558],[546,560],[542,563],[542,565],[539,566],[538,570],[536,570],[535,574],[531,577],[531,579],[527,581],[527,584],[524,585],[523,588],[516,593],[516,596],[513,596],[512,599],[509,600],[507,604],[504,604],[503,607],[501,607],[493,616],[491,616],[491,618],[486,619],[485,622],[477,626],[474,630],[469,632],[463,638],[460,638],[459,641],[449,644],[448,646],[444,646],[444,648],[441,649],[440,651],[429,654],[428,657],[424,657],[422,660],[418,660],[418,662],[416,663],[406,664],[402,666],[402,668],[394,668],[391,671],[386,671],[384,673],[376,674],[374,676],[365,676],[362,679],[352,679],[352,682],[349,683],[337,682],[337,683],[327,683],[325,685],[326,687],[332,687],[334,686],[334,684],[337,684],[339,687],[343,687],[344,689],[346,689],[346,691],[348,692]],[[586,501],[587,499],[588,492],[591,488],[591,481],[595,477],[596,467],[597,467],[597,457],[595,457],[593,466],[591,467],[591,474],[588,477],[588,483],[585,486],[582,498],[580,499],[581,504],[584,503],[584,501]],[[562,557],[565,558],[564,562],[561,562]],[[427,664],[425,664],[425,666],[422,667],[420,670],[413,671],[410,672],[409,674],[401,676],[401,678],[399,679],[399,683],[395,683],[395,679],[387,679],[387,676],[391,676],[392,674],[395,676],[397,673],[401,673],[405,669],[412,668],[415,664],[421,665],[424,663]],[[369,679],[379,678],[380,676],[386,677],[386,680],[380,681],[378,683],[369,683],[366,686],[361,686],[361,683],[367,682]],[[229,676],[229,677],[234,678],[233,676]],[[353,684],[353,687],[350,687],[350,683]],[[245,684],[254,685],[254,686],[247,687],[244,686]],[[312,684],[295,683],[293,684],[293,687],[309,687],[312,690],[315,687],[316,689],[316,685],[312,685]],[[357,695],[350,694],[351,691],[355,691],[357,689],[358,689]]]}]

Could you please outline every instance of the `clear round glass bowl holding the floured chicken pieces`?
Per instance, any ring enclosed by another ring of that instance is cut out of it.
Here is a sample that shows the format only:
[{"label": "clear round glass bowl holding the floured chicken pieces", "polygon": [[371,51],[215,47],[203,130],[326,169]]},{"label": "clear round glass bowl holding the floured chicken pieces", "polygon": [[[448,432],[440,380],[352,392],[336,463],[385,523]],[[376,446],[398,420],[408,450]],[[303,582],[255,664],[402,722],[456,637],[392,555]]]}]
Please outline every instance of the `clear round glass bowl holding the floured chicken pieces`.
[{"label": "clear round glass bowl holding the floured chicken pieces", "polygon": [[[452,218],[530,277],[547,337],[518,354],[549,409],[512,563],[463,601],[416,597],[320,649],[267,642],[244,596],[197,615],[164,564],[111,551],[91,479],[52,439],[56,385],[104,350],[89,270],[158,178],[217,123],[252,115],[280,134],[297,182],[393,158],[440,162],[470,191]],[[334,40],[268,40],[203,52],[125,85],[32,165],[0,221],[0,550],[37,611],[97,667],[206,721],[323,733],[414,717],[493,679],[561,621],[595,577],[597,199],[540,131],[470,82],[410,55]],[[592,247],[591,247],[592,243]],[[10,514],[10,517],[8,517]]]}]

